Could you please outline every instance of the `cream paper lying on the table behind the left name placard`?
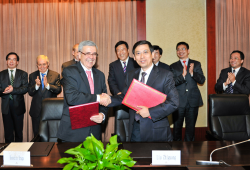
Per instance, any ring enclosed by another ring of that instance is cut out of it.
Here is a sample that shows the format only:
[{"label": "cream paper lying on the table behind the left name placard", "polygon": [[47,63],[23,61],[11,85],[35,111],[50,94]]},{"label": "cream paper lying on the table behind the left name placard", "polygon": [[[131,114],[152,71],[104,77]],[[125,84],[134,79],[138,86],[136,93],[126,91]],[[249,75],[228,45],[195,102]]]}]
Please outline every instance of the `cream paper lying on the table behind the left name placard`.
[{"label": "cream paper lying on the table behind the left name placard", "polygon": [[[28,151],[34,142],[11,142],[4,151]],[[0,154],[3,156],[3,152]]]}]

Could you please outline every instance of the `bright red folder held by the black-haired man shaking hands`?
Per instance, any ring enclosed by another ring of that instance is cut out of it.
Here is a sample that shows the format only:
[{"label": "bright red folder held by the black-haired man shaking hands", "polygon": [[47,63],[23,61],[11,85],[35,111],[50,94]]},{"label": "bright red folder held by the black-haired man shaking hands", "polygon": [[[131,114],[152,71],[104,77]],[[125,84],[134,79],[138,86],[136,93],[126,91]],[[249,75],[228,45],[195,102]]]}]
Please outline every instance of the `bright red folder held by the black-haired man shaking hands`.
[{"label": "bright red folder held by the black-haired man shaking hands", "polygon": [[122,104],[138,111],[141,108],[138,108],[137,106],[146,106],[148,108],[154,107],[163,103],[166,98],[166,94],[133,79],[125,97],[123,98]]}]

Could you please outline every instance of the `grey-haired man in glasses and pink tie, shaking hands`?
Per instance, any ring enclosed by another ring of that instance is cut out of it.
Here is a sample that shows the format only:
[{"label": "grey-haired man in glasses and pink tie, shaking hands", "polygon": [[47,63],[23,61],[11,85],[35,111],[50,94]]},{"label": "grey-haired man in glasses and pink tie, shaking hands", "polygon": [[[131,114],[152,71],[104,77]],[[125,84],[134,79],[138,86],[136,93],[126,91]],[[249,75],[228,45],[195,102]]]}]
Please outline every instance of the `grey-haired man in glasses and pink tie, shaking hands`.
[{"label": "grey-haired man in glasses and pink tie, shaking hands", "polygon": [[93,67],[98,56],[96,44],[92,41],[83,41],[79,44],[78,50],[81,53],[80,62],[65,68],[62,72],[64,106],[57,137],[62,141],[83,142],[87,136],[93,134],[101,140],[101,123],[107,119],[106,107],[100,106],[99,115],[90,118],[98,125],[74,130],[71,128],[69,106],[96,101],[103,104],[105,100],[110,100],[109,97],[100,95],[107,93],[107,88],[104,74]]}]

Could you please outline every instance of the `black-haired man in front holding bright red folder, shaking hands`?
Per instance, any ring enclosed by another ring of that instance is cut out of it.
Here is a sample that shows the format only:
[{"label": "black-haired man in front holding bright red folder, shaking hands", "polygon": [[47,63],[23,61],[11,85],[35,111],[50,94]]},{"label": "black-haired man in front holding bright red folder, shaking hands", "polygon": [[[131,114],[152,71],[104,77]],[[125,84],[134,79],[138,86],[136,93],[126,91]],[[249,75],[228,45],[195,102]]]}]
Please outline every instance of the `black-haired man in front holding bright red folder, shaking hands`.
[{"label": "black-haired man in front holding bright red folder, shaking hands", "polygon": [[173,140],[167,116],[172,114],[179,105],[178,92],[175,88],[172,72],[153,64],[153,51],[154,49],[148,41],[135,43],[133,47],[134,59],[141,68],[127,74],[122,93],[112,96],[112,103],[109,105],[109,107],[113,107],[121,104],[133,79],[140,80],[167,95],[165,102],[155,107],[138,106],[141,110],[137,112],[129,109],[129,140],[131,142]]}]

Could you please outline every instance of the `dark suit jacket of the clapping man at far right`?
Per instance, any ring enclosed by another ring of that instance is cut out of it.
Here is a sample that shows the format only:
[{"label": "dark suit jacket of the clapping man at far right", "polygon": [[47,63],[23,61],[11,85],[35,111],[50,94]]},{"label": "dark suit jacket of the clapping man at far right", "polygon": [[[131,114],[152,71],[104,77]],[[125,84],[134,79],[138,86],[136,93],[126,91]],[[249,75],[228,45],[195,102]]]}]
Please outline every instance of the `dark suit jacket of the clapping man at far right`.
[{"label": "dark suit jacket of the clapping man at far right", "polygon": [[[215,84],[215,91],[218,93],[224,92],[223,83],[226,82],[228,72],[232,72],[232,68],[228,67],[221,70],[220,77]],[[234,94],[250,94],[250,71],[244,67],[241,67],[236,75],[236,82],[233,86]]]}]

